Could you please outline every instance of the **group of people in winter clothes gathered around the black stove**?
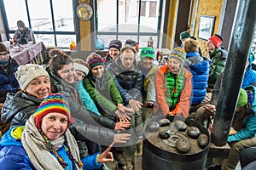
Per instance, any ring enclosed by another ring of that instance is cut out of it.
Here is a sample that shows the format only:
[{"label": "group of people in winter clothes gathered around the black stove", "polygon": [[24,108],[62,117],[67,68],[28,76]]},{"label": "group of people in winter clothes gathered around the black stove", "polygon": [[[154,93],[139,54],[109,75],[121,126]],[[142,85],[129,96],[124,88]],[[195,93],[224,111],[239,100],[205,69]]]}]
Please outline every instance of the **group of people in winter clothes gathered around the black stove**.
[{"label": "group of people in winter clothes gathered around the black stove", "polygon": [[[55,48],[44,67],[17,65],[0,43],[1,167],[132,169],[134,156],[143,154],[143,126],[150,116],[189,117],[190,106],[201,104],[207,92],[212,92],[207,107],[216,110],[226,60],[222,37],[208,39],[207,59],[188,35],[181,34],[182,47],[161,67],[154,65],[154,48],[139,48],[131,39],[124,45],[113,40],[106,57],[92,53],[84,60]],[[228,140],[230,156],[214,161],[218,166],[236,166],[239,152],[254,144],[256,73],[250,57],[235,116],[237,133]],[[203,124],[208,116],[200,107],[193,118]],[[241,149],[244,140],[252,142]]]}]

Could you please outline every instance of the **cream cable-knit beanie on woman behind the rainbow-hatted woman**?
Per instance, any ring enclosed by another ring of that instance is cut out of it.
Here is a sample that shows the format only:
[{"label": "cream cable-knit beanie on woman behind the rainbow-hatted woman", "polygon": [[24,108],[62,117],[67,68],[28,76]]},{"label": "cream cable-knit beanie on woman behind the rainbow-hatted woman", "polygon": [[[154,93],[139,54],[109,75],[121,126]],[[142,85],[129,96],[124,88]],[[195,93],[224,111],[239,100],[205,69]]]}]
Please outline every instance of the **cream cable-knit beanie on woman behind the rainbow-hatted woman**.
[{"label": "cream cable-knit beanie on woman behind the rainbow-hatted woman", "polygon": [[44,70],[42,65],[20,65],[18,70],[15,72],[15,77],[20,84],[21,90],[24,90],[33,79],[42,76],[49,77],[48,72]]}]

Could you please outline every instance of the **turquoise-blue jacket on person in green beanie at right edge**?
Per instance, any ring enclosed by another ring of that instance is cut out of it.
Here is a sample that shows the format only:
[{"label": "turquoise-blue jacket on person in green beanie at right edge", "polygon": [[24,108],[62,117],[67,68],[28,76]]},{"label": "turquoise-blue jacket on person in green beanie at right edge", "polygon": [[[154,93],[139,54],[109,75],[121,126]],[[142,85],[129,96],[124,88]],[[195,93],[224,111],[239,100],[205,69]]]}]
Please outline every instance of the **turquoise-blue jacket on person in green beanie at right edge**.
[{"label": "turquoise-blue jacket on person in green beanie at right edge", "polygon": [[250,139],[253,138],[256,135],[256,99],[255,99],[255,93],[256,93],[256,88],[254,86],[248,86],[247,88],[244,88],[245,90],[250,89],[253,91],[254,94],[254,99],[253,99],[253,111],[254,115],[253,116],[245,116],[242,119],[242,123],[246,125],[246,127],[242,128],[239,130],[236,134],[229,136],[228,142],[233,142],[233,141],[239,141],[242,139]]}]

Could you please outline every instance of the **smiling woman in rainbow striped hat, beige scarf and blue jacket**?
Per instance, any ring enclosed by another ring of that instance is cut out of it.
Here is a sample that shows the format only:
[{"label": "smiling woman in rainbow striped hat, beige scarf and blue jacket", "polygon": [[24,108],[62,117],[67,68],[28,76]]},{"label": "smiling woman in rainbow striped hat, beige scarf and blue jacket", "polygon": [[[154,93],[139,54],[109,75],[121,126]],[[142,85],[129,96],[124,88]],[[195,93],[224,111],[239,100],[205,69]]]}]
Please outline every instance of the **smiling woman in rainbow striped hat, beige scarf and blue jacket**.
[{"label": "smiling woman in rainbow striped hat, beige scarf and blue jacket", "polygon": [[3,169],[80,170],[83,167],[97,169],[102,162],[113,161],[109,152],[113,144],[102,154],[80,159],[77,141],[67,128],[69,122],[67,99],[62,94],[50,94],[30,116],[25,127],[12,127],[3,135],[0,166]]}]

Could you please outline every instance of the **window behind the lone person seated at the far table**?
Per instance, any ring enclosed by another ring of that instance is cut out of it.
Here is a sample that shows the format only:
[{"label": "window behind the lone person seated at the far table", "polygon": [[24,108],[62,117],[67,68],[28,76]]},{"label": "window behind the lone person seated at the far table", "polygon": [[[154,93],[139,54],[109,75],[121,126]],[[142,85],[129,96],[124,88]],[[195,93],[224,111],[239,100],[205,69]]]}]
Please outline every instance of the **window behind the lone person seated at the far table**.
[{"label": "window behind the lone person seated at the far table", "polygon": [[73,1],[70,0],[1,0],[9,37],[14,37],[17,21],[22,20],[26,27],[35,33],[36,41],[45,46],[69,48],[76,41],[73,22]]}]

